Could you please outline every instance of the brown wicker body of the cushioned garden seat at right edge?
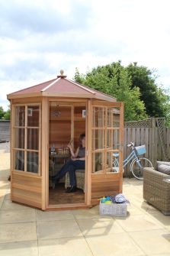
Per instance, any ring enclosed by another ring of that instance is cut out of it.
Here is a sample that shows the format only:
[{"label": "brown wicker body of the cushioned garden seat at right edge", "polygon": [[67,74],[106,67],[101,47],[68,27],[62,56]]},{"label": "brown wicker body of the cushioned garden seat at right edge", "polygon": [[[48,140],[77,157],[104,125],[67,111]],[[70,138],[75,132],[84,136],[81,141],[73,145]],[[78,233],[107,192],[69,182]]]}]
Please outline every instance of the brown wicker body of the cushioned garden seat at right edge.
[{"label": "brown wicker body of the cushioned garden seat at right edge", "polygon": [[143,198],[163,214],[170,215],[170,176],[152,168],[144,168]]}]

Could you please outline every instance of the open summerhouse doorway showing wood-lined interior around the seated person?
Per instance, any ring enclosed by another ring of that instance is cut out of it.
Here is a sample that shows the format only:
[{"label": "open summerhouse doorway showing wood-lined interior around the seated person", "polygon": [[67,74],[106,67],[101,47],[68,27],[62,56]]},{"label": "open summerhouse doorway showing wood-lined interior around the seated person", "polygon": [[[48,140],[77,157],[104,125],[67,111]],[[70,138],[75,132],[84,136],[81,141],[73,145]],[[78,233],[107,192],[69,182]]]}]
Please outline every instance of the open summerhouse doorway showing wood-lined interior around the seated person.
[{"label": "open summerhouse doorway showing wood-lined interior around the seated person", "polygon": [[49,205],[53,208],[72,207],[85,203],[85,170],[76,170],[77,190],[66,193],[70,186],[69,173],[66,173],[59,183],[54,183],[54,177],[70,159],[71,154],[67,144],[79,147],[79,135],[85,133],[85,103],[50,102],[49,105]]}]

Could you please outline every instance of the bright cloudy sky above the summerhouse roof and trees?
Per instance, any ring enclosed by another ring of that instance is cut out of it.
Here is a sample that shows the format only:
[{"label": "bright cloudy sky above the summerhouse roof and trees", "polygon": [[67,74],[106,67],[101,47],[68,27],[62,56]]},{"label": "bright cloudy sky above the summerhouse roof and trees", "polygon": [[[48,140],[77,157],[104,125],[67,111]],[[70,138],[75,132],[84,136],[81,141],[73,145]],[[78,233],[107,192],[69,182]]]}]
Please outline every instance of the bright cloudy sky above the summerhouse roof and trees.
[{"label": "bright cloudy sky above the summerhouse roof and trees", "polygon": [[0,106],[7,94],[54,79],[63,69],[121,60],[155,70],[170,88],[169,0],[0,0]]}]

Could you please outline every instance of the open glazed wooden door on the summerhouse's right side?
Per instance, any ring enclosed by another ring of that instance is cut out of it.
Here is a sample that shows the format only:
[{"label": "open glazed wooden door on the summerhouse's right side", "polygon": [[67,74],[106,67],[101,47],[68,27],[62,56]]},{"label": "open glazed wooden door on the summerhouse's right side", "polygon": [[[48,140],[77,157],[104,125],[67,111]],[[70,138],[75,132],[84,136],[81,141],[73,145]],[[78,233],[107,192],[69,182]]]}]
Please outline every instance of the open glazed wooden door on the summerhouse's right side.
[{"label": "open glazed wooden door on the summerhouse's right side", "polygon": [[[123,103],[91,102],[91,204],[122,191]],[[119,168],[113,169],[113,154],[119,153]]]}]

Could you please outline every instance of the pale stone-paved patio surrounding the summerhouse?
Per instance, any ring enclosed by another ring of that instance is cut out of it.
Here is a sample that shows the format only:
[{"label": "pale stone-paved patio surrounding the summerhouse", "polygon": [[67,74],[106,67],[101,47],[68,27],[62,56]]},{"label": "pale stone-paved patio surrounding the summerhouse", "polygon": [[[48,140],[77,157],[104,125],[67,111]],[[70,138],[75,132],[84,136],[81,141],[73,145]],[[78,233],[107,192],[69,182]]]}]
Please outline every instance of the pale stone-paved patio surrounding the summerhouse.
[{"label": "pale stone-paved patio surrounding the summerhouse", "polygon": [[9,153],[0,151],[0,255],[170,255],[170,216],[143,202],[143,182],[123,179],[127,217],[42,212],[10,201]]}]

